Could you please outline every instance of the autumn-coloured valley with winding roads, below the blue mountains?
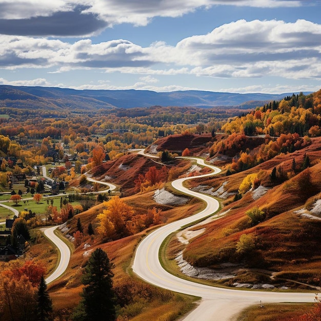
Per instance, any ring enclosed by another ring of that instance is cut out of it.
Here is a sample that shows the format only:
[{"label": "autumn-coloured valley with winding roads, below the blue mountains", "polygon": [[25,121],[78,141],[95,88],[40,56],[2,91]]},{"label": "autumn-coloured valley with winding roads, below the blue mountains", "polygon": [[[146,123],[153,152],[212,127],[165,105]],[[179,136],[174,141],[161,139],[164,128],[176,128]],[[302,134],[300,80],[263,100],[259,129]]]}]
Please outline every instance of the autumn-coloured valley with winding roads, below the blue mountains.
[{"label": "autumn-coloured valley with winding roads, below the blue mountains", "polygon": [[[82,271],[97,248],[114,264],[119,321],[150,315],[229,320],[251,305],[313,304],[321,262],[320,106],[316,92],[236,116],[231,109],[220,118],[217,109],[157,107],[149,109],[151,118],[137,109],[132,117],[117,110],[64,118],[41,111],[23,119],[13,109],[2,118],[1,197],[11,199],[8,206],[19,212],[15,224],[29,238],[19,259],[0,263],[0,273],[7,275],[15,261],[21,268],[30,259],[41,264],[54,314],[66,320],[81,300]],[[179,122],[164,118],[169,110]],[[5,230],[16,212],[9,217],[8,208],[2,211]],[[52,225],[63,227],[57,230],[71,252],[69,261],[68,251],[47,247],[49,268],[30,255],[43,242],[41,230]],[[172,234],[182,226],[191,235],[184,244]],[[234,267],[234,273],[222,279],[186,276],[177,253],[196,269]],[[62,274],[51,274],[59,256]],[[197,297],[202,303],[188,314]],[[292,307],[284,320],[299,320],[300,310]]]}]

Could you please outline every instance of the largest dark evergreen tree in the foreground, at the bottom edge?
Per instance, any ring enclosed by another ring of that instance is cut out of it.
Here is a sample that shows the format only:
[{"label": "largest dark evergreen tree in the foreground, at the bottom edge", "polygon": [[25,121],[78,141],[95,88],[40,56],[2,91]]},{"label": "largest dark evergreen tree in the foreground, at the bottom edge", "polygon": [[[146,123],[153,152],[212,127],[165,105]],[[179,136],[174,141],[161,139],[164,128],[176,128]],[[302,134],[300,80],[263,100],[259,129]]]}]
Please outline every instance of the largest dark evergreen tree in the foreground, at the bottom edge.
[{"label": "largest dark evergreen tree in the foreground, at the bottom edge", "polygon": [[[115,312],[115,295],[112,288],[112,277],[114,274],[111,269],[113,264],[101,248],[97,248],[88,260],[83,277],[83,299],[77,308],[83,307],[81,318],[86,321],[114,321]],[[75,319],[75,318],[74,318]]]}]

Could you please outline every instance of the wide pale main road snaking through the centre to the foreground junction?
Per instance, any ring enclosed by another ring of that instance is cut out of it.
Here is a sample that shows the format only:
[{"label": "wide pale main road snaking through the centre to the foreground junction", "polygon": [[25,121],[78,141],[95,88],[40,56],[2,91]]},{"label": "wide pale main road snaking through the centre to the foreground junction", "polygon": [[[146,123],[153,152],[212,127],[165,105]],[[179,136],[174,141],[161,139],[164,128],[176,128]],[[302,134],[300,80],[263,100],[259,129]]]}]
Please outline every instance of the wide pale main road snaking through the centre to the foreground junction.
[{"label": "wide pale main road snaking through the centre to the foreground junction", "polygon": [[214,166],[205,165],[203,159],[189,158],[195,159],[199,165],[211,168],[213,172],[205,175],[179,178],[174,180],[172,186],[186,194],[205,200],[207,206],[203,211],[191,217],[160,227],[147,235],[137,247],[132,266],[134,273],[156,286],[201,297],[202,301],[200,305],[184,319],[185,321],[229,321],[235,314],[239,313],[247,306],[253,304],[258,305],[260,304],[260,301],[262,301],[263,304],[279,302],[313,302],[313,293],[244,291],[217,288],[181,279],[163,269],[159,263],[158,253],[164,239],[171,233],[177,231],[180,227],[213,214],[219,207],[217,200],[208,195],[190,191],[183,186],[183,183],[187,179],[217,174],[220,172],[220,169]]}]

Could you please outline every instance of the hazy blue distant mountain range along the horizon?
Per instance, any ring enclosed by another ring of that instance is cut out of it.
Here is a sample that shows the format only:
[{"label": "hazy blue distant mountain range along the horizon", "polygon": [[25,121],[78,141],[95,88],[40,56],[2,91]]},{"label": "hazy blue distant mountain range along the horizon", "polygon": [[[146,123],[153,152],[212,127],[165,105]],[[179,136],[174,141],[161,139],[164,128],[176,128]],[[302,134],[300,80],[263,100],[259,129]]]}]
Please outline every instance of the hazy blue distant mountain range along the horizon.
[{"label": "hazy blue distant mountain range along the horizon", "polygon": [[[307,93],[306,93],[307,94]],[[150,106],[254,108],[292,93],[238,94],[200,90],[75,90],[57,87],[0,85],[0,107],[47,110],[96,110]]]}]

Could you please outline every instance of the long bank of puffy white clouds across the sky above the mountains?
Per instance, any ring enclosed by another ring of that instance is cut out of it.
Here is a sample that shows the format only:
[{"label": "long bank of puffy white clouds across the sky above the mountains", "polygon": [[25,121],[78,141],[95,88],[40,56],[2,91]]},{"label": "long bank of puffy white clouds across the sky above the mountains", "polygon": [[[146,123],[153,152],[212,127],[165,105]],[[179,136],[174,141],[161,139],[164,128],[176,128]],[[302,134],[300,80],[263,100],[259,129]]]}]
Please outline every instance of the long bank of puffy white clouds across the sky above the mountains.
[{"label": "long bank of puffy white clouds across the sky above the mountains", "polygon": [[[321,25],[306,20],[239,20],[205,35],[187,37],[176,46],[156,42],[148,47],[125,39],[73,44],[47,38],[0,36],[0,67],[99,69],[151,75],[192,74],[210,77],[321,78]],[[52,72],[52,70],[50,71]]]}]

